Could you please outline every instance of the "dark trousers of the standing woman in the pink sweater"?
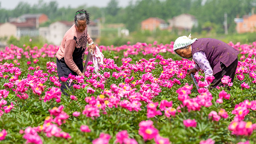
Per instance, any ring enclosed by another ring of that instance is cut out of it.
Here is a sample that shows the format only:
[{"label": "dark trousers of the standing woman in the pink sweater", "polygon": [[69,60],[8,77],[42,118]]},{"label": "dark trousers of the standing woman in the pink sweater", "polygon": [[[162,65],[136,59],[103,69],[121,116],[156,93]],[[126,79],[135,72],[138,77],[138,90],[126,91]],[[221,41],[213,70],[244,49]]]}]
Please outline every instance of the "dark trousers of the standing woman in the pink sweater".
[{"label": "dark trousers of the standing woman in the pink sweater", "polygon": [[[72,75],[77,75],[76,72],[72,71],[68,66],[67,64],[65,63],[65,60],[62,58],[62,59],[58,59],[57,58],[57,72],[58,72],[58,77],[59,77],[59,82],[62,82],[60,80],[60,77],[64,76],[66,78],[68,78],[69,74],[71,73]],[[79,68],[80,71],[83,71],[83,63],[81,64],[76,64],[76,66]],[[73,86],[73,83],[71,83],[71,85],[69,86],[69,83],[68,81],[67,82],[62,82],[61,83],[61,91],[67,95],[67,93],[64,91],[64,89],[67,89],[67,86],[68,88],[72,87]]]}]

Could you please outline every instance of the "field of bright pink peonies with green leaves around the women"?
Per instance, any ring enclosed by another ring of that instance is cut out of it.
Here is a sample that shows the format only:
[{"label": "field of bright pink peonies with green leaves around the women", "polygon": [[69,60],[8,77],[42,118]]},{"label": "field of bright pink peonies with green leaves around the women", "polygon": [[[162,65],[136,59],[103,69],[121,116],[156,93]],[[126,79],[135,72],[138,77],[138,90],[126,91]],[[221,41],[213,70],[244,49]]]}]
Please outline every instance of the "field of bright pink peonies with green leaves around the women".
[{"label": "field of bright pink peonies with green leaves around the women", "polygon": [[[89,61],[84,76],[60,80],[59,46],[5,47],[0,143],[256,144],[256,42],[228,43],[240,51],[236,76],[215,89],[204,87],[202,70],[196,88],[187,74],[195,62],[175,55],[173,43],[98,45],[98,73]],[[67,95],[66,81],[74,83]]]}]

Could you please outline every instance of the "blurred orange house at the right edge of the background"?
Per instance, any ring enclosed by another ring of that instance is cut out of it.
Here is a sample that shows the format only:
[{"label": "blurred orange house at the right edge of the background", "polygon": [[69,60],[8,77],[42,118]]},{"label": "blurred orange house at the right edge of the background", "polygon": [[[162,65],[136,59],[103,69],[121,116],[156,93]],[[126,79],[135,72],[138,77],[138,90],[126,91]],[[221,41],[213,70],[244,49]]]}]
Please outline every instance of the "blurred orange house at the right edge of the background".
[{"label": "blurred orange house at the right edge of the background", "polygon": [[235,18],[238,33],[256,32],[256,14],[244,15],[243,18]]}]

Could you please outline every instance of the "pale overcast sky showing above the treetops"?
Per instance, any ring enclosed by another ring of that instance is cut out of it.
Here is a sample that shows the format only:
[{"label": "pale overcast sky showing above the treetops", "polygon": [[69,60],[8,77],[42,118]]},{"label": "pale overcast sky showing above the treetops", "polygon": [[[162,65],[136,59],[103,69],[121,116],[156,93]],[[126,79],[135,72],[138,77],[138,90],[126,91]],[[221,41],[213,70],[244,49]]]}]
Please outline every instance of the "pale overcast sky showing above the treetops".
[{"label": "pale overcast sky showing above the treetops", "polygon": [[[20,2],[28,2],[30,5],[38,3],[38,0],[0,0],[1,8],[3,9],[14,9],[17,4]],[[72,8],[77,8],[79,5],[86,4],[87,6],[98,6],[98,7],[105,7],[108,5],[110,0],[43,0],[44,2],[49,3],[50,1],[57,1],[59,7],[68,7],[69,5]],[[117,0],[119,2],[120,7],[126,7],[129,4],[129,1],[137,1],[137,0]]]}]

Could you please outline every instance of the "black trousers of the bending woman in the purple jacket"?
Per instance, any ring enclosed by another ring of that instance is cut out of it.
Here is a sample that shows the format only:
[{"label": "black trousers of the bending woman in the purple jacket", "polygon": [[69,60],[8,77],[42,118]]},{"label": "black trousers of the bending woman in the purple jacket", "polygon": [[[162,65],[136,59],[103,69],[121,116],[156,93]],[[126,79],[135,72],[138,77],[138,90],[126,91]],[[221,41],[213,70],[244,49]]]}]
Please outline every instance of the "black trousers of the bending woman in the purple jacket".
[{"label": "black trousers of the bending woman in the purple jacket", "polygon": [[228,67],[226,67],[225,64],[221,62],[222,71],[213,75],[215,79],[212,82],[211,88],[216,88],[217,86],[219,87],[223,86],[223,84],[221,83],[221,79],[224,75],[230,76],[231,82],[233,83],[234,76],[236,74],[237,65],[238,65],[238,58],[234,62],[232,62]]}]

